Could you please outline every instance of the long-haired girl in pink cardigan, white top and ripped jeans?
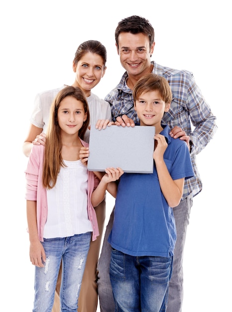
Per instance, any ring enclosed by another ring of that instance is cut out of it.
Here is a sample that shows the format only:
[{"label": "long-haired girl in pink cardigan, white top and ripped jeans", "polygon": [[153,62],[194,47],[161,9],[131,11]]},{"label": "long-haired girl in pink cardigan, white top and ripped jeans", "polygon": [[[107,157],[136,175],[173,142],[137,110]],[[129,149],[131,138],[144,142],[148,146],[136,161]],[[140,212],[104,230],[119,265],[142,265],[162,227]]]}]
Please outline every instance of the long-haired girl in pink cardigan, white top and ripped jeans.
[{"label": "long-haired girl in pink cardigan, white top and ripped jeans", "polygon": [[[35,265],[35,311],[52,310],[62,260],[61,311],[74,311],[90,240],[99,235],[94,206],[108,182],[119,177],[111,169],[103,180],[87,171],[79,158],[89,126],[85,95],[72,86],[52,103],[46,146],[34,145],[26,169],[30,261]],[[102,182],[103,181],[103,182]]]}]

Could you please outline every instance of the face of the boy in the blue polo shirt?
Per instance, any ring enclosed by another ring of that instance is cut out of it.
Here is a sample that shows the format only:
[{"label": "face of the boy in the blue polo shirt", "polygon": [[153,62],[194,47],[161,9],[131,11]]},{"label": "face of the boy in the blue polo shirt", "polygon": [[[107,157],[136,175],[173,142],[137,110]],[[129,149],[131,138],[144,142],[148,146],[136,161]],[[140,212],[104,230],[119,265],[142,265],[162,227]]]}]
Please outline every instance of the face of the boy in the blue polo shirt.
[{"label": "face of the boy in the blue polo shirt", "polygon": [[161,120],[169,108],[157,90],[141,93],[134,105],[140,126],[154,126],[156,134],[162,131]]}]

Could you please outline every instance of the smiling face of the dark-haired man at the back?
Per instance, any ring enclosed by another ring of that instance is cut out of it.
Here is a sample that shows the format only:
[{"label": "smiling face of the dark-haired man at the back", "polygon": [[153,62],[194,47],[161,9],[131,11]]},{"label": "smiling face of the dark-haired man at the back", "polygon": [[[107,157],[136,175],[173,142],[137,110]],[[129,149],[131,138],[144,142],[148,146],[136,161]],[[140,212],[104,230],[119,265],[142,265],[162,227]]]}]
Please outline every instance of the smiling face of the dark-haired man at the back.
[{"label": "smiling face of the dark-haired man at the back", "polygon": [[128,76],[140,78],[150,73],[150,55],[153,53],[154,45],[153,42],[150,49],[149,38],[143,33],[121,32],[119,34],[117,53]]}]

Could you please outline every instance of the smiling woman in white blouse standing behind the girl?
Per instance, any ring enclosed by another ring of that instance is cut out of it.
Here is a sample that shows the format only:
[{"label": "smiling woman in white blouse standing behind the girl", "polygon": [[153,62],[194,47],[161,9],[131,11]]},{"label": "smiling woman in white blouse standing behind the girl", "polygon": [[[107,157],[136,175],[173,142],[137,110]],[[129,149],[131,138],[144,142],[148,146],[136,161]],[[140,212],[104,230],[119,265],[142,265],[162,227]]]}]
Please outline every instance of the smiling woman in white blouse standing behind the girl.
[{"label": "smiling woman in white blouse standing behind the girl", "polygon": [[[100,82],[106,72],[107,51],[105,46],[97,40],[88,40],[80,44],[73,60],[75,80],[72,86],[79,87],[87,97],[90,122],[96,124],[99,119],[111,121],[111,109],[108,102],[100,99],[92,93],[92,89]],[[35,98],[34,110],[31,116],[29,133],[23,144],[23,153],[29,156],[33,145],[45,145],[45,134],[49,120],[50,106],[65,85],[60,88],[39,93]],[[85,141],[89,142],[89,129],[85,133]],[[97,264],[104,230],[106,202],[105,200],[95,208],[100,235],[95,241],[91,241],[87,258],[85,274],[83,277],[78,312],[96,312],[98,304],[97,291]],[[59,312],[59,274],[53,312]]]}]

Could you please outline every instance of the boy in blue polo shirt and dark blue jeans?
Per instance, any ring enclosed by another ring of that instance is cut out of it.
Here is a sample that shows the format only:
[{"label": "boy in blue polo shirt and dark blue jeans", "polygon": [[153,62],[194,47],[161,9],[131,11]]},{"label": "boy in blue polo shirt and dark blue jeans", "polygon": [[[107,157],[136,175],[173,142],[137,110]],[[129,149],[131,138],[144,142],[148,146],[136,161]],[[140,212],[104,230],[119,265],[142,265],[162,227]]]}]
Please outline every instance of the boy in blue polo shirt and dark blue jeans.
[{"label": "boy in blue polo shirt and dark blue jeans", "polygon": [[172,92],[156,74],[133,88],[134,110],[141,126],[155,127],[154,171],[120,177],[114,224],[110,279],[117,311],[166,311],[176,241],[171,207],[179,204],[184,181],[194,176],[186,142],[173,139],[161,124]]}]

